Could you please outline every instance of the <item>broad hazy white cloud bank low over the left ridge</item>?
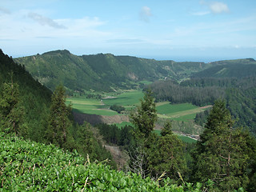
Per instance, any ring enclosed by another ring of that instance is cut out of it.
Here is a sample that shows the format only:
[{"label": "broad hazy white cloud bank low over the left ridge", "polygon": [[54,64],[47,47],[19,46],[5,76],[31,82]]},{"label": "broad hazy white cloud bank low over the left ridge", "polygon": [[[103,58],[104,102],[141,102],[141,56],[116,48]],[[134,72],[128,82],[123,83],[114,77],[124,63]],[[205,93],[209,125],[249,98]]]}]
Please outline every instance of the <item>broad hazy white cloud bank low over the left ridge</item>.
[{"label": "broad hazy white cloud bank low over the left ridge", "polygon": [[[0,12],[1,13],[1,12]],[[103,26],[99,18],[64,18],[52,19],[38,14],[38,11],[19,10],[11,14],[3,14],[0,17],[1,39],[30,40],[38,38],[84,38],[102,39],[110,33],[99,30]]]}]

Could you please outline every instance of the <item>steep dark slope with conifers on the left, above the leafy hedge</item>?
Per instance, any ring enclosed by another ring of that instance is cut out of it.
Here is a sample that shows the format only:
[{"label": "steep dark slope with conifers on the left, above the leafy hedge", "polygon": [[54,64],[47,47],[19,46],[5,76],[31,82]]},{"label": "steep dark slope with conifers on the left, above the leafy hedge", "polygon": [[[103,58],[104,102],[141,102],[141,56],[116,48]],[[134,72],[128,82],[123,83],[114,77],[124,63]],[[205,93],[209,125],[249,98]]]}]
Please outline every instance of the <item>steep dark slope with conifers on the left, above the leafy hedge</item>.
[{"label": "steep dark slope with conifers on the left, above the leafy hedge", "polygon": [[[89,124],[74,123],[65,100],[62,86],[52,94],[23,66],[0,52],[0,130],[36,142],[53,143],[66,150],[77,150],[84,157],[90,154],[93,160],[111,159]],[[111,165],[115,166],[113,161]]]}]

